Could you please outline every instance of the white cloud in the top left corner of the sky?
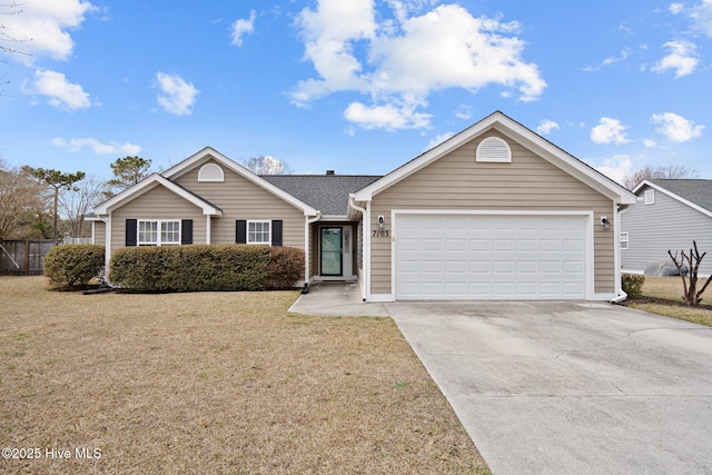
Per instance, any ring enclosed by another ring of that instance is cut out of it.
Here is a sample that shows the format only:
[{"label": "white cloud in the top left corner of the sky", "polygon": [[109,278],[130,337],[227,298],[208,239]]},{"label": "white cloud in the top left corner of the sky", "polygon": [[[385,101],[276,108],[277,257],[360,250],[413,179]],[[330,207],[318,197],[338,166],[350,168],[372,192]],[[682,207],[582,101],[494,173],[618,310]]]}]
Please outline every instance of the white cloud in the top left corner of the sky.
[{"label": "white cloud in the top left corner of the sky", "polygon": [[39,56],[55,60],[69,58],[75,42],[67,30],[79,28],[85,14],[96,10],[96,7],[82,0],[22,0],[8,3],[10,7],[3,6],[3,11],[20,13],[2,16],[2,33],[18,41],[13,48],[28,53],[12,55],[16,60],[26,63],[31,63]]}]

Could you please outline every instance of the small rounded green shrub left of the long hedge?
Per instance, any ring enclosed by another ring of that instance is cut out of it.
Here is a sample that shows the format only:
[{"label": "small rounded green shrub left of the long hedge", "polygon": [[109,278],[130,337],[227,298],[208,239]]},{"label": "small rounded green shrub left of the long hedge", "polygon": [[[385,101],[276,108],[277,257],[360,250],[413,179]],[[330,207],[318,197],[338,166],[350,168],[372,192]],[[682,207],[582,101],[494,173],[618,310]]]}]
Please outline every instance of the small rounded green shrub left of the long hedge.
[{"label": "small rounded green shrub left of the long hedge", "polygon": [[103,246],[68,244],[56,246],[44,256],[44,276],[52,287],[79,287],[101,274]]}]

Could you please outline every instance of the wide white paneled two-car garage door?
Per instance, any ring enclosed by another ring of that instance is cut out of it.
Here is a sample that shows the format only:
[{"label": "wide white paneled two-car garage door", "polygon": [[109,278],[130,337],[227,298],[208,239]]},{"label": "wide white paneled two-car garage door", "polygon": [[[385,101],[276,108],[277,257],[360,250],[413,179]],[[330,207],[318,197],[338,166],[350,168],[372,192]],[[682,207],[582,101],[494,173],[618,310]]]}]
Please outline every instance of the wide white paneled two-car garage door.
[{"label": "wide white paneled two-car garage door", "polygon": [[583,299],[584,216],[395,218],[395,297]]}]

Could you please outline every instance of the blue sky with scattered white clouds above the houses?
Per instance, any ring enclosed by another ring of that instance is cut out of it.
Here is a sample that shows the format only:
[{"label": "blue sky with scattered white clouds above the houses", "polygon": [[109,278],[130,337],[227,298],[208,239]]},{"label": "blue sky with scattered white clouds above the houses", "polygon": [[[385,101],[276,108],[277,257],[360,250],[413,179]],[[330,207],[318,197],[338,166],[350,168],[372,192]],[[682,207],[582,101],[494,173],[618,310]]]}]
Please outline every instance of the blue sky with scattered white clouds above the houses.
[{"label": "blue sky with scattered white clouds above the houses", "polygon": [[712,178],[712,0],[18,3],[0,7],[0,46],[24,52],[0,62],[11,166],[103,179],[211,146],[382,175],[502,110],[614,179]]}]

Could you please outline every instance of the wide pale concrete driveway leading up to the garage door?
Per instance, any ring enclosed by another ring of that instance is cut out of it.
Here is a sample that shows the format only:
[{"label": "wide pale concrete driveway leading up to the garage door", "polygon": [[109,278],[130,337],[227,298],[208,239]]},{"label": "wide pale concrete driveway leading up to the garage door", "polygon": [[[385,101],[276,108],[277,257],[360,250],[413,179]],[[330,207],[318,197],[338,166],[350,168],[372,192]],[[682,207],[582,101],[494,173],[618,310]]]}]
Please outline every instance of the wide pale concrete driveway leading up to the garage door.
[{"label": "wide pale concrete driveway leading up to the garage door", "polygon": [[712,328],[609,304],[385,308],[495,475],[712,473]]}]

